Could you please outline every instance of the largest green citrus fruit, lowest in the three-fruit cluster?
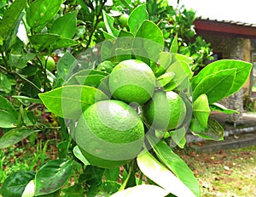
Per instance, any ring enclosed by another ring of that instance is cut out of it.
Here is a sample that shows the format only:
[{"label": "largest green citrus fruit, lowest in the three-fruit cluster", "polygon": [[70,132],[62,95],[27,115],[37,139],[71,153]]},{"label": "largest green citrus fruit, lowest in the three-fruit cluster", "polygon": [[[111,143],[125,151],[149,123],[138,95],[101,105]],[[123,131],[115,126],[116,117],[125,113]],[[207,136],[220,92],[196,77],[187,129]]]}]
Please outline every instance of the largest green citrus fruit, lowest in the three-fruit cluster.
[{"label": "largest green citrus fruit, lowest in the three-fruit cluster", "polygon": [[79,118],[75,140],[91,165],[116,167],[143,147],[143,121],[130,105],[105,100],[90,105]]}]

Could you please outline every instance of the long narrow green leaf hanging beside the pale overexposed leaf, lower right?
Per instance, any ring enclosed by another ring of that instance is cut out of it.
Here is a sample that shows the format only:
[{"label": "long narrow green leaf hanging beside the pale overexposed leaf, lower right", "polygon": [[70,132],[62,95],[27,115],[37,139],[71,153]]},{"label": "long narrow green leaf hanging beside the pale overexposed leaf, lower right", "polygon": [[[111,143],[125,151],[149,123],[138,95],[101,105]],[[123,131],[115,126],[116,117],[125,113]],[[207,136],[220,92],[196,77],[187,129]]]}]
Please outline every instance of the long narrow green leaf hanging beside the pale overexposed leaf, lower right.
[{"label": "long narrow green leaf hanging beside the pale overexposed leaf, lower right", "polygon": [[[200,196],[200,187],[189,166],[164,141],[155,144],[154,152],[160,161],[166,165],[194,194]],[[154,180],[153,180],[154,181]],[[174,194],[174,193],[172,193]],[[189,196],[189,195],[180,195]]]}]

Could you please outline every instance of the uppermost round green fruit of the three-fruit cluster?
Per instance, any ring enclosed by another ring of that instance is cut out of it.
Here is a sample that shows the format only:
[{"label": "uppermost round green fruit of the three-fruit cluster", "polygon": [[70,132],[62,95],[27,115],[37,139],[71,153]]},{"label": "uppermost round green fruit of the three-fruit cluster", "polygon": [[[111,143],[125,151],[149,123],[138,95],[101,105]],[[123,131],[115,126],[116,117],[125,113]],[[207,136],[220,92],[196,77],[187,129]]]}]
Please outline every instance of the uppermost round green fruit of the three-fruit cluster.
[{"label": "uppermost round green fruit of the three-fruit cluster", "polygon": [[113,97],[126,103],[146,103],[153,95],[155,77],[143,61],[128,59],[116,65],[109,75]]}]

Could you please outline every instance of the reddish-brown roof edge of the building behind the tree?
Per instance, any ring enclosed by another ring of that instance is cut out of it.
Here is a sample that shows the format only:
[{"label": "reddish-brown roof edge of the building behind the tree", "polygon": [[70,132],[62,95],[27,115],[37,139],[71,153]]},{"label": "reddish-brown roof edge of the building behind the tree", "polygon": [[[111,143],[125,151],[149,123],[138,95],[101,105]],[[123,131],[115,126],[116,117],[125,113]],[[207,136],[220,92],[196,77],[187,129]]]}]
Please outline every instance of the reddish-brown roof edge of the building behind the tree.
[{"label": "reddish-brown roof edge of the building behind the tree", "polygon": [[199,34],[221,34],[232,37],[256,39],[256,25],[233,20],[210,20],[198,18],[194,22],[195,31]]}]

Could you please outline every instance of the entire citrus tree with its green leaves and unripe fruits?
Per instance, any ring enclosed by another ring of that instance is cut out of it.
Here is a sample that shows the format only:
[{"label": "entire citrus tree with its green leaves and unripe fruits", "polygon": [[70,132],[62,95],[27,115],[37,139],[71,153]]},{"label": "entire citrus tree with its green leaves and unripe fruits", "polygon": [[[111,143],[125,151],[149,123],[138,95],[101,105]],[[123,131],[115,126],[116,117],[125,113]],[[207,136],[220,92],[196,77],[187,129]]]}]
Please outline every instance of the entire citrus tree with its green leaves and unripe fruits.
[{"label": "entire citrus tree with its green leaves and unripe fruits", "polygon": [[[77,27],[78,12],[65,13],[77,2],[96,17],[92,30],[102,16],[104,26],[97,30],[102,42],[92,42],[96,34],[81,33],[86,25]],[[200,196],[193,172],[170,144],[184,148],[186,132],[223,140],[224,129],[210,112],[236,112],[218,101],[242,87],[252,65],[224,59],[195,76],[193,59],[178,53],[177,37],[166,47],[147,4],[131,9],[121,26],[108,9],[102,11],[105,1],[77,2],[15,0],[3,12],[0,148],[44,131],[32,104],[59,117],[61,142],[58,159],[36,172],[13,173],[0,194]],[[61,59],[54,65],[49,56],[59,48]],[[21,83],[18,90],[12,82]]]}]

